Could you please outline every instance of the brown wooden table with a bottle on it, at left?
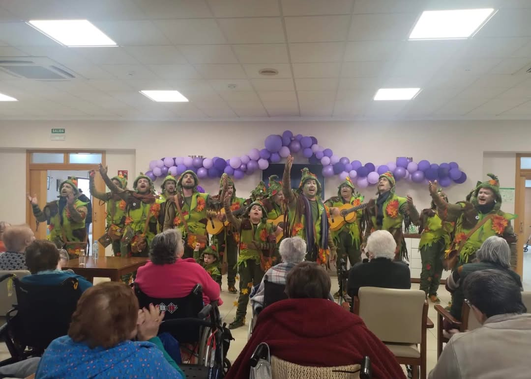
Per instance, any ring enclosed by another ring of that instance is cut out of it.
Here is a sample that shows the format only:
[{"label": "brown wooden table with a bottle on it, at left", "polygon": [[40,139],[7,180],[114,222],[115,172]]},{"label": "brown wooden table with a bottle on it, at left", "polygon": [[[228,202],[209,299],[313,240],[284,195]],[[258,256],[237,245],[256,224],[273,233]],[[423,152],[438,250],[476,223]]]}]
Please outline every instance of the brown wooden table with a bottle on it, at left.
[{"label": "brown wooden table with a bottle on it, at left", "polygon": [[110,278],[112,281],[120,281],[122,275],[130,274],[145,265],[148,258],[142,257],[101,257],[97,260],[92,257],[85,258],[85,266],[79,267],[79,259],[71,259],[63,270],[71,269],[76,274],[87,278],[92,282],[97,278]]}]

